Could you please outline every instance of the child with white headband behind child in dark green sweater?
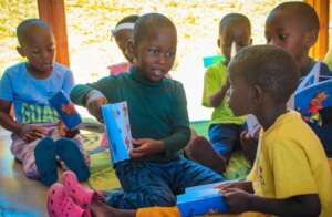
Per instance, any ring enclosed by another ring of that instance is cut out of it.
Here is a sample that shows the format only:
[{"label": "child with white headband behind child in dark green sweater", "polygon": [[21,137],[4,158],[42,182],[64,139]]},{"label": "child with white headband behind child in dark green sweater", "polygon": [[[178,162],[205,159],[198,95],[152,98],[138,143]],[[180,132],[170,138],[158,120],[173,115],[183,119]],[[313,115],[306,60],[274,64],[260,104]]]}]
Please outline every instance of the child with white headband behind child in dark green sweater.
[{"label": "child with white headband behind child in dark green sweater", "polygon": [[133,38],[134,25],[138,18],[139,16],[135,14],[127,16],[116,23],[114,30],[111,30],[112,37],[114,37],[117,46],[128,61],[108,66],[110,72],[113,75],[117,75],[122,72],[128,72],[131,69],[133,58],[128,53],[127,45],[128,41]]}]

